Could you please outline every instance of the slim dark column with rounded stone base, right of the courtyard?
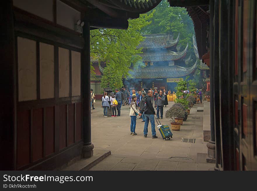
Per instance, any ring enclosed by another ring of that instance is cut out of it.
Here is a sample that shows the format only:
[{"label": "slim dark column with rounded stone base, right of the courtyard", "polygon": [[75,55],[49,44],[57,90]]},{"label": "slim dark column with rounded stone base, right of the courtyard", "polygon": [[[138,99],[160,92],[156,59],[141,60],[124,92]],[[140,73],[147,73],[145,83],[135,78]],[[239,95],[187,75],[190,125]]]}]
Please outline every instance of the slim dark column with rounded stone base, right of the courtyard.
[{"label": "slim dark column with rounded stone base, right of the courtyard", "polygon": [[209,140],[209,142],[207,143],[207,148],[208,148],[208,157],[206,158],[206,162],[210,162],[210,163],[215,163],[215,128],[214,128],[214,92],[213,92],[213,64],[214,64],[214,60],[213,60],[213,40],[214,40],[214,36],[213,36],[213,16],[214,16],[214,1],[210,0],[210,95],[211,95],[211,99],[210,99],[210,110],[211,110],[211,138]]}]

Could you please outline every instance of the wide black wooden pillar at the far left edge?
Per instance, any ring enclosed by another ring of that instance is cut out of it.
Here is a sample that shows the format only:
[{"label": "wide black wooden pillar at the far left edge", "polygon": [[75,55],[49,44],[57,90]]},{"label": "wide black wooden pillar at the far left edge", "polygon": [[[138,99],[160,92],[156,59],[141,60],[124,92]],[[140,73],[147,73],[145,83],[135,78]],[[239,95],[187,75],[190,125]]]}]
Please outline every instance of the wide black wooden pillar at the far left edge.
[{"label": "wide black wooden pillar at the far left edge", "polygon": [[15,137],[16,137],[16,67],[13,1],[1,1],[1,170],[15,170]]}]

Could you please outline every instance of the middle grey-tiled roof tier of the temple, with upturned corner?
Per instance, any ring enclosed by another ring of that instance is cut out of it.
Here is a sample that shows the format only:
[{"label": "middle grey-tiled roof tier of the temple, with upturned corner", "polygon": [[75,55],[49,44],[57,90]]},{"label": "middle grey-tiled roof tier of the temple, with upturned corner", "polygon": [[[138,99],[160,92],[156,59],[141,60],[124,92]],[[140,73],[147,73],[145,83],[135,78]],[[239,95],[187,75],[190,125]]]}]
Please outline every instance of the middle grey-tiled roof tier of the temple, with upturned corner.
[{"label": "middle grey-tiled roof tier of the temple, with upturned corner", "polygon": [[141,53],[143,62],[156,62],[156,61],[175,61],[183,58],[186,55],[188,44],[182,52],[173,52],[168,50],[167,52],[156,53]]}]

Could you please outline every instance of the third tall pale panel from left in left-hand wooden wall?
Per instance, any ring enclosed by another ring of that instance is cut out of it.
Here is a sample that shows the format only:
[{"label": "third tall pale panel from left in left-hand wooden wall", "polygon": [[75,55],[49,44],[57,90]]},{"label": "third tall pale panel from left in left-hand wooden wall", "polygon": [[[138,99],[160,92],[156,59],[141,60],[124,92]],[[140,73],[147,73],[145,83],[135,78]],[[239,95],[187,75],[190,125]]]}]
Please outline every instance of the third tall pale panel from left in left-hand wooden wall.
[{"label": "third tall pale panel from left in left-hand wooden wall", "polygon": [[59,97],[70,96],[69,50],[59,47]]}]

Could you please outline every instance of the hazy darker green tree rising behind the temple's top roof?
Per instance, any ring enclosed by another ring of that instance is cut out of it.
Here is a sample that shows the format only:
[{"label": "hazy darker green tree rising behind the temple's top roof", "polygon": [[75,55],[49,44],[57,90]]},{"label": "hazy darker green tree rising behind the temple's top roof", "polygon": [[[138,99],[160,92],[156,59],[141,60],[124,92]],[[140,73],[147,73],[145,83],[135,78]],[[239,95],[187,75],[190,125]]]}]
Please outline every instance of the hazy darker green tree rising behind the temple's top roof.
[{"label": "hazy darker green tree rising behind the temple's top roof", "polygon": [[[173,33],[174,38],[180,33],[179,44],[182,44],[180,50],[184,49],[188,43],[187,55],[193,55],[192,36],[195,34],[195,30],[192,19],[187,15],[186,9],[170,7],[169,3],[163,0],[148,14],[154,11],[154,16],[150,19],[152,23],[145,26],[141,32],[143,34]],[[190,66],[194,63],[195,60],[190,60]]]}]

